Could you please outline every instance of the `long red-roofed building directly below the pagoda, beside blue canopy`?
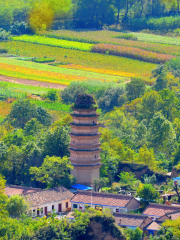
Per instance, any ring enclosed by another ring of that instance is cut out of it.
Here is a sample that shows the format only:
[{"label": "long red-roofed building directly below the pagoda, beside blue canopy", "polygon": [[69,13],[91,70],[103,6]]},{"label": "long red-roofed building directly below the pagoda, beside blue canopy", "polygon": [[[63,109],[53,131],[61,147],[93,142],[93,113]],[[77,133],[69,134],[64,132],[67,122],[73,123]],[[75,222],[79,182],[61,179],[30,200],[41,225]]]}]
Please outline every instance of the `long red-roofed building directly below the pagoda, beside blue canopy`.
[{"label": "long red-roofed building directly below the pagoda, beside blue canopy", "polygon": [[105,208],[111,209],[113,212],[128,212],[130,210],[139,209],[140,203],[132,196],[98,193],[89,191],[78,191],[71,199],[72,210],[85,210],[85,206],[89,206],[98,210]]}]

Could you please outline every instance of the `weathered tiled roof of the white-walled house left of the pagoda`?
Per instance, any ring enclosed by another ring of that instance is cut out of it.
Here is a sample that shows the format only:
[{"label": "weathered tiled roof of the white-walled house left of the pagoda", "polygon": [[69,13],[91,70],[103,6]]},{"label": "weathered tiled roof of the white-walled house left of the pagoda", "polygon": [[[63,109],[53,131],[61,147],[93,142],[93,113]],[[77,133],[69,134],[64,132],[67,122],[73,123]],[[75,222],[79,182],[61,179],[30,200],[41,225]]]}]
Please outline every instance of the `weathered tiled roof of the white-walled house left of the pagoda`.
[{"label": "weathered tiled roof of the white-walled house left of the pagoda", "polygon": [[53,203],[57,201],[71,199],[74,194],[65,187],[56,187],[40,192],[25,194],[30,206],[39,206],[46,203]]}]

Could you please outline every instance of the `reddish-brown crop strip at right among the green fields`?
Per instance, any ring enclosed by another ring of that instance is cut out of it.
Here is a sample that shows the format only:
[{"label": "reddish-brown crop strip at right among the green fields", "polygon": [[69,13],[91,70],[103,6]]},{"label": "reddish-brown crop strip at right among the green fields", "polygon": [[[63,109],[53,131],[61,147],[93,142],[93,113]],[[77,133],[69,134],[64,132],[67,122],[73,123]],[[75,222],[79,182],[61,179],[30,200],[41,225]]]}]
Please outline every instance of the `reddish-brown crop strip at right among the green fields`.
[{"label": "reddish-brown crop strip at right among the green fields", "polygon": [[92,47],[92,52],[95,53],[103,53],[103,54],[111,54],[121,57],[128,57],[132,59],[138,59],[141,61],[151,62],[151,63],[165,63],[175,56],[167,55],[167,54],[160,54],[160,53],[153,53],[150,51],[145,51],[139,48],[133,47],[124,47],[124,46],[117,46],[111,44],[103,44],[99,43]]}]

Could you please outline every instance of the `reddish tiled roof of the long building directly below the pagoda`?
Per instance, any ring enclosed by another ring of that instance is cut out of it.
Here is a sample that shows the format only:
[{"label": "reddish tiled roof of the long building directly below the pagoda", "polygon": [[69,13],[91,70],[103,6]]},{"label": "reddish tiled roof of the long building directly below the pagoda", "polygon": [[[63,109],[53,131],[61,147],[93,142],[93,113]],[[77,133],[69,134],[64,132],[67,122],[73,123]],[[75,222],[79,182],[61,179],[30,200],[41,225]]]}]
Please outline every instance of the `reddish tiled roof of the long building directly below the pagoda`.
[{"label": "reddish tiled roof of the long building directly below the pagoda", "polygon": [[[124,196],[120,194],[92,192],[92,204],[96,205],[126,207],[131,199],[133,199],[133,197],[127,195]],[[76,203],[91,204],[91,192],[78,191],[71,201]]]}]

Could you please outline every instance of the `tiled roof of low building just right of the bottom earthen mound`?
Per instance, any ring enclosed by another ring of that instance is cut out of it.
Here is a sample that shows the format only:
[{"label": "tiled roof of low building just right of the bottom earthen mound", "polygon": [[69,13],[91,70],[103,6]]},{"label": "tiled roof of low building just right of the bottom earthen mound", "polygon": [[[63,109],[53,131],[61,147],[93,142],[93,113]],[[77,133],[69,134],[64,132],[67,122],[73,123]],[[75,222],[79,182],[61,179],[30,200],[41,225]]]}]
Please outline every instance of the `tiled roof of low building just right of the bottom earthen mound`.
[{"label": "tiled roof of low building just right of the bottom earthen mound", "polygon": [[148,216],[130,213],[114,213],[117,225],[140,227]]}]

